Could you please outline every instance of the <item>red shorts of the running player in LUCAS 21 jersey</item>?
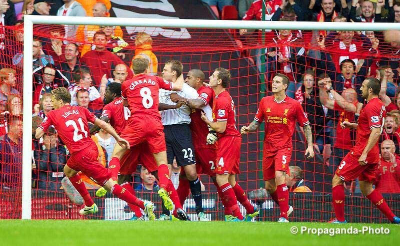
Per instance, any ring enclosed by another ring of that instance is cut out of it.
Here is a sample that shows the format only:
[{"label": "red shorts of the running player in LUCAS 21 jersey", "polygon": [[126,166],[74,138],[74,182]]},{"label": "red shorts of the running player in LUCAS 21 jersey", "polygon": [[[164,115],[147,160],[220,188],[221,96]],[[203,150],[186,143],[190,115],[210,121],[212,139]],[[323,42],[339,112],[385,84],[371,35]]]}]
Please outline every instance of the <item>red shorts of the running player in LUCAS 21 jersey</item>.
[{"label": "red shorts of the running player in LUCAS 21 jersey", "polygon": [[97,157],[98,149],[93,142],[88,148],[73,153],[66,165],[75,171],[81,171],[98,185],[103,186],[111,178],[111,172],[100,164]]}]

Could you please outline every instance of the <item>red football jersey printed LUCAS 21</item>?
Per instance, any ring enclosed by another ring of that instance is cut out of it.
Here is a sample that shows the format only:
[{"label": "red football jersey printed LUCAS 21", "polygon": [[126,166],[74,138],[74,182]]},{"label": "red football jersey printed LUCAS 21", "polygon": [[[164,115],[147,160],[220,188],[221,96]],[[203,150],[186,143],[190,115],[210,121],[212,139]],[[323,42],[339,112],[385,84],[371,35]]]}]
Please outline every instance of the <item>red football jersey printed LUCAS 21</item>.
[{"label": "red football jersey printed LUCAS 21", "polygon": [[65,105],[48,112],[39,128],[46,131],[53,125],[68,151],[73,154],[93,144],[87,121],[94,123],[96,119],[87,108]]}]

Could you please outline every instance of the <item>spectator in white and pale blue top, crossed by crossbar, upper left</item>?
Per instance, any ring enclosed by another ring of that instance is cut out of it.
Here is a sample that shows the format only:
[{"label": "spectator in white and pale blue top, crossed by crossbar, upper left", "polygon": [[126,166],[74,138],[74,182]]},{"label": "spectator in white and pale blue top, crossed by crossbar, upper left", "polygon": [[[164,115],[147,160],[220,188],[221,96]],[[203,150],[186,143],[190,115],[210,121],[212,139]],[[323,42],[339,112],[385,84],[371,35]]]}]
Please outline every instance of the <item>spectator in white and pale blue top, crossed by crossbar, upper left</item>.
[{"label": "spectator in white and pale blue top, crossed by crossbar, upper left", "polygon": [[[57,16],[86,16],[86,11],[82,7],[82,5],[75,0],[62,0],[64,4],[58,8]],[[79,25],[64,25],[65,34],[64,34],[64,44],[68,43],[69,40],[76,39],[76,32],[78,28],[83,28],[83,26],[79,27]]]}]

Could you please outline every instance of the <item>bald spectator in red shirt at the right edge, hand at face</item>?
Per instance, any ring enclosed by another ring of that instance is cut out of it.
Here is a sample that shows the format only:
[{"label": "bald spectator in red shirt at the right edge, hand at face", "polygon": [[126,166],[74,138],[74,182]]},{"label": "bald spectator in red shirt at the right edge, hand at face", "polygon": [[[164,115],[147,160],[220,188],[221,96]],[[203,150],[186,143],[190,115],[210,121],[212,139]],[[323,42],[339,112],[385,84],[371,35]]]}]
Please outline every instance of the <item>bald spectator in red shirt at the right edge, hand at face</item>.
[{"label": "bald spectator in red shirt at the right edge, hand at face", "polygon": [[400,193],[400,157],[394,153],[394,143],[380,144],[380,163],[376,171],[375,190],[380,193]]}]

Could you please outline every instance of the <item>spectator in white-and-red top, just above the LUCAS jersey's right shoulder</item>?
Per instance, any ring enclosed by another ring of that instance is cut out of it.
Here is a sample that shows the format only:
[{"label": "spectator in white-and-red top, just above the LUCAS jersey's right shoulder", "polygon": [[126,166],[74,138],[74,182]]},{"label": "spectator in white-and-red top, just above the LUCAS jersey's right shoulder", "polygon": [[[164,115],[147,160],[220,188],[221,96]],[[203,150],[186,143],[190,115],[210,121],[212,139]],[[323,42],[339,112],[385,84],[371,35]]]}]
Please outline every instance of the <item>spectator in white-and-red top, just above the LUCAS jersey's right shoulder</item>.
[{"label": "spectator in white-and-red top, just above the LUCAS jersey's right shoulder", "polygon": [[92,79],[90,72],[88,70],[82,69],[79,73],[74,73],[73,78],[76,81],[75,84],[72,84],[68,87],[69,93],[71,94],[71,102],[70,105],[76,106],[78,102],[76,99],[76,93],[80,89],[85,89],[89,93],[88,95],[88,103],[89,108],[95,111],[101,111],[103,106],[103,101],[100,93],[92,85]]}]

